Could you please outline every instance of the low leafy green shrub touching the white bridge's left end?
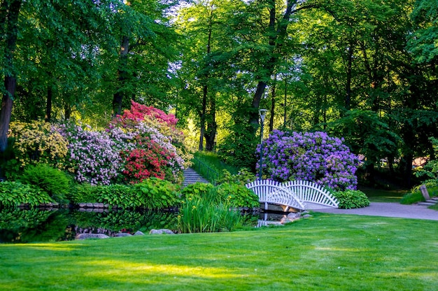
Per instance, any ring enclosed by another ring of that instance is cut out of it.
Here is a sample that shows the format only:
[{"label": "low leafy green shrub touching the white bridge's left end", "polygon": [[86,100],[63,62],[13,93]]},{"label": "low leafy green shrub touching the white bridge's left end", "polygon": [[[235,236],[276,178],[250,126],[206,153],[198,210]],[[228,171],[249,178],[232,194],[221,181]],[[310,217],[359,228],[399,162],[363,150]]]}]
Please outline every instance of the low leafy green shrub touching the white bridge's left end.
[{"label": "low leafy green shrub touching the white bridge's left end", "polygon": [[260,206],[259,198],[253,191],[237,183],[222,183],[213,189],[220,201],[229,201],[234,207],[253,208]]}]

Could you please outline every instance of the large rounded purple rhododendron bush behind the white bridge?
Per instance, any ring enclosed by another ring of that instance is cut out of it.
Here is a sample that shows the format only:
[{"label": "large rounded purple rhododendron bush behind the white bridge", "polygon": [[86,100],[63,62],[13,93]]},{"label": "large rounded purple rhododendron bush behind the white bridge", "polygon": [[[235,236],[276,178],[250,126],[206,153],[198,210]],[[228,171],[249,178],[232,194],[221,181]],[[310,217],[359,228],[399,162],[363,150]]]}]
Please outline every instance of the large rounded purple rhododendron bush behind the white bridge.
[{"label": "large rounded purple rhododendron bush behind the white bridge", "polygon": [[[260,145],[257,153],[260,157]],[[262,158],[264,176],[272,180],[309,180],[335,191],[355,190],[358,185],[358,157],[343,140],[325,132],[274,130],[264,141]]]}]

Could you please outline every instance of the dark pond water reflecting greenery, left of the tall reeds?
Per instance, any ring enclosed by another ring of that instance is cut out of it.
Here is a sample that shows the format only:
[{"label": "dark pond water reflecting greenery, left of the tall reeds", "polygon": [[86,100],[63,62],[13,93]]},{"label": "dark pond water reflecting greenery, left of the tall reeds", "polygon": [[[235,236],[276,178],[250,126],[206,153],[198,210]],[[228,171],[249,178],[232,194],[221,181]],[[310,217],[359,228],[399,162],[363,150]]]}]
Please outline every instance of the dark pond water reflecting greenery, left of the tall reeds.
[{"label": "dark pond water reflecting greenery, left of the tall reeds", "polygon": [[0,243],[70,241],[82,233],[114,236],[118,232],[177,229],[174,212],[76,211],[3,208],[0,211]]}]

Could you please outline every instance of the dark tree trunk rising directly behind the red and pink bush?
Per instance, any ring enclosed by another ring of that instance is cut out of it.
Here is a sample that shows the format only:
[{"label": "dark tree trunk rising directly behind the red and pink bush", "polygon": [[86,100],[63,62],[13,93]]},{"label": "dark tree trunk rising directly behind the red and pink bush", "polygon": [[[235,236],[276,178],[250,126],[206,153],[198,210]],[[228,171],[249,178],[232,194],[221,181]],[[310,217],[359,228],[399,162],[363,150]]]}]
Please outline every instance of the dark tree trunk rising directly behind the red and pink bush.
[{"label": "dark tree trunk rising directly behind the red and pink bush", "polygon": [[123,36],[120,47],[119,66],[117,70],[118,88],[113,96],[113,115],[122,113],[122,101],[125,96],[125,81],[127,79],[127,61],[129,52],[129,37]]}]

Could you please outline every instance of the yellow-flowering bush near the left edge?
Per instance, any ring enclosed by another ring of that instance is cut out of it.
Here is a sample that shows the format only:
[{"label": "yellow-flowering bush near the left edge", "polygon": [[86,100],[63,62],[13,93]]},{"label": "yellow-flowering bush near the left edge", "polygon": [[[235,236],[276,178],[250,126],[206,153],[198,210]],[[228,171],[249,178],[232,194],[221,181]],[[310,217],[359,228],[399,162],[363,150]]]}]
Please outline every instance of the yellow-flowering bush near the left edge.
[{"label": "yellow-flowering bush near the left edge", "polygon": [[67,141],[55,125],[44,121],[10,122],[9,136],[15,139],[13,150],[21,167],[44,163],[62,168]]}]

